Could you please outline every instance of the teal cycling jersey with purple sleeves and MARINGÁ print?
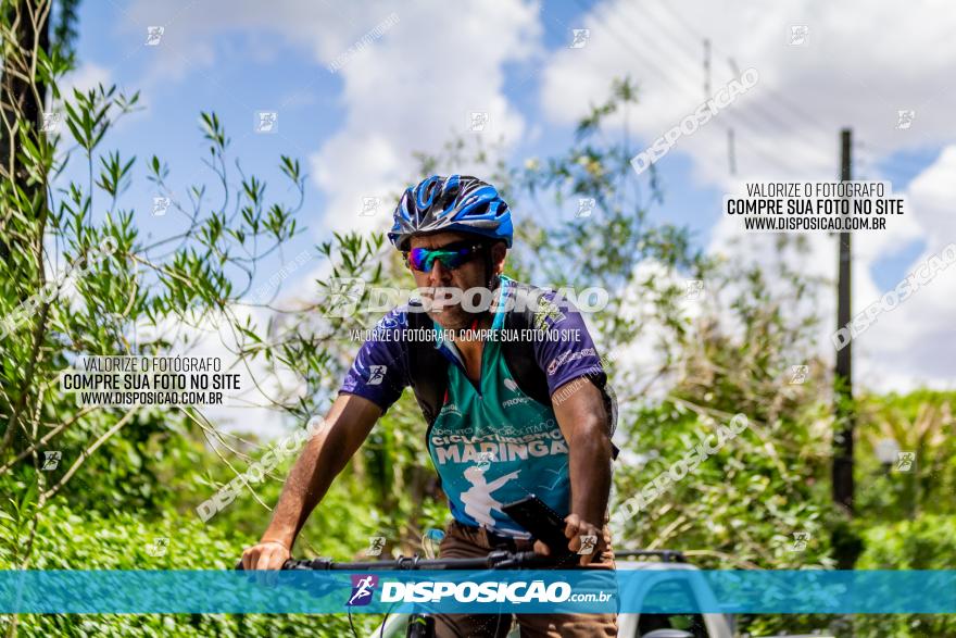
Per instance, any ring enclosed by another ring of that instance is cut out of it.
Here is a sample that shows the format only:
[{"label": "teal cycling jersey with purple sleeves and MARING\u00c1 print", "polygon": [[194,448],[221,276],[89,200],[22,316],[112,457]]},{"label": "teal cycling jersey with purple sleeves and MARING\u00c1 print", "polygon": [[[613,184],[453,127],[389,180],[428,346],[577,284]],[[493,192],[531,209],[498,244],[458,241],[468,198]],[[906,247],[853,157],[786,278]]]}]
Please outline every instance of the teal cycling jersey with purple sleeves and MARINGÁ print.
[{"label": "teal cycling jersey with purple sleeves and MARING\u00c1 print", "polygon": [[[510,285],[512,280],[502,277],[492,333],[504,326],[507,311],[501,301]],[[340,392],[363,396],[383,410],[398,399],[410,383],[407,342],[401,335],[408,326],[406,312],[397,309],[379,322],[379,338],[363,345]],[[552,406],[520,389],[505,361],[504,341],[483,341],[480,376],[473,383],[454,343],[442,339],[437,323],[430,324],[435,340],[429,347],[438,348],[449,365],[444,401],[427,429],[427,446],[452,515],[465,525],[527,538],[501,508],[534,493],[566,516],[569,451]],[[577,377],[593,379],[600,374],[603,378],[600,358],[578,312],[563,310],[559,317],[549,320],[549,327],[579,334],[575,340],[536,342],[534,356],[550,392]]]}]

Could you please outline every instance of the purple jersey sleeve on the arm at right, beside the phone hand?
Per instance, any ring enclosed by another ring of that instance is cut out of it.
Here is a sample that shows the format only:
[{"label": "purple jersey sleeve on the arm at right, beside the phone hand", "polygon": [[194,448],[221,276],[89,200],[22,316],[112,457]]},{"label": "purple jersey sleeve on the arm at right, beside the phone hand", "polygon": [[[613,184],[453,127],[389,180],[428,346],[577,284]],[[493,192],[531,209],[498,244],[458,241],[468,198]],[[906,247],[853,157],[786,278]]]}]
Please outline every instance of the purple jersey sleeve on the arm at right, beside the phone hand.
[{"label": "purple jersey sleeve on the arm at right, beside the phone hand", "polygon": [[[543,297],[553,300],[555,292],[546,292]],[[561,386],[578,377],[588,377],[595,386],[603,388],[607,380],[601,356],[594,347],[584,318],[581,313],[566,299],[556,302],[559,313],[544,318],[544,329],[567,330],[566,339],[536,339],[534,355],[538,365],[548,378],[548,389],[553,395]]]}]

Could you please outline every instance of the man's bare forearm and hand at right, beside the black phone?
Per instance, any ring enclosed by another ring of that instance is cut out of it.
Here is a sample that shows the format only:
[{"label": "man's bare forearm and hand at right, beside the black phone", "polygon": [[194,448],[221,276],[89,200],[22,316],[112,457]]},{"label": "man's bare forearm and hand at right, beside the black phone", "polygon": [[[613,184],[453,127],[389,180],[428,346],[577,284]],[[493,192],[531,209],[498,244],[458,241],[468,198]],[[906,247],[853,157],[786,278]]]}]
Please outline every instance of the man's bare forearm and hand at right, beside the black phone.
[{"label": "man's bare forearm and hand at right, beside the black phone", "polygon": [[[558,400],[565,388],[567,397]],[[568,547],[573,551],[580,549],[579,536],[598,537],[594,553],[581,556],[581,563],[588,564],[606,545],[602,528],[607,499],[611,497],[611,436],[607,431],[607,413],[601,390],[581,377],[555,390],[552,404],[557,425],[568,442],[571,513],[566,520],[565,536],[571,539]]]}]

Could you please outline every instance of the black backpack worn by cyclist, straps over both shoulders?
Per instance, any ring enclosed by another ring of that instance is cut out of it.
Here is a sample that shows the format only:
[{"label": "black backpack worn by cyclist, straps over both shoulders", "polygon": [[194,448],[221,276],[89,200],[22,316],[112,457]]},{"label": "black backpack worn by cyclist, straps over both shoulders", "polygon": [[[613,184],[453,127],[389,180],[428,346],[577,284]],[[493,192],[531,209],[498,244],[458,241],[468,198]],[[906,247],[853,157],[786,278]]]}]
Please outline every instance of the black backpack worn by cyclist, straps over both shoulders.
[{"label": "black backpack worn by cyclist, straps over both shoulders", "polygon": [[[515,296],[515,304],[513,310],[505,314],[504,329],[521,330],[545,327],[540,324],[536,325],[536,314],[539,313],[534,311],[538,308],[536,301],[544,295],[545,290],[519,282],[512,282],[508,288],[510,292]],[[551,305],[556,308],[554,304]],[[411,329],[431,330],[433,328],[431,317],[426,312],[408,312],[406,316]],[[435,348],[433,342],[422,339],[410,340],[407,352],[412,390],[422,408],[422,414],[425,415],[425,420],[430,426],[438,417],[444,403],[450,362]],[[503,341],[502,353],[518,388],[539,403],[550,406],[551,392],[548,388],[548,377],[534,358],[533,343],[527,339]],[[614,389],[606,383],[603,374],[589,378],[598,386],[604,397],[604,409],[608,416],[608,436],[611,436],[617,426],[617,399]],[[617,447],[612,443],[614,458],[617,458]]]}]

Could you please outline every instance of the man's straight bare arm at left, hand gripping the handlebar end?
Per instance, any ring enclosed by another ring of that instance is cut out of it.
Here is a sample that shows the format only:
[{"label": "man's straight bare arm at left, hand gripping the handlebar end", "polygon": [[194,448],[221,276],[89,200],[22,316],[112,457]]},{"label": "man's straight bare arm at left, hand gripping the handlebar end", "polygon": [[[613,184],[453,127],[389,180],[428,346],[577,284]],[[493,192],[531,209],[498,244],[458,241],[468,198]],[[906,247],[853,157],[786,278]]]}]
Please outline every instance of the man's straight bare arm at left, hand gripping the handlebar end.
[{"label": "man's straight bare arm at left, hand gripping the handlebar end", "polygon": [[259,545],[242,552],[246,570],[278,570],[299,530],[381,415],[381,408],[356,395],[339,395],[325,423],[305,445],[286,479],[273,521]]}]

